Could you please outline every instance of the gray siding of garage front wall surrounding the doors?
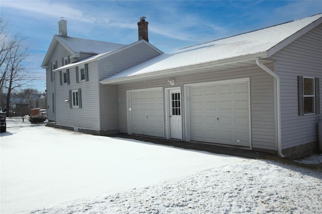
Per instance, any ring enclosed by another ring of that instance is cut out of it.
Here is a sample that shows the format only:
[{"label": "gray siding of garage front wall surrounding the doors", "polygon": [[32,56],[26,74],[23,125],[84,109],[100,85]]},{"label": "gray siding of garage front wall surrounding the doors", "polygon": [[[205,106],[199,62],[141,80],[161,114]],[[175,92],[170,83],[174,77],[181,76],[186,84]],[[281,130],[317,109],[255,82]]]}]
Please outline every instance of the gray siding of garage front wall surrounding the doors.
[{"label": "gray siding of garage front wall surrounding the doors", "polygon": [[[273,69],[273,64],[267,66],[270,69]],[[257,66],[224,72],[198,73],[197,75],[190,76],[183,75],[175,78],[174,86],[169,85],[169,79],[157,78],[150,82],[145,81],[137,84],[120,84],[118,88],[120,132],[127,133],[127,90],[163,87],[165,92],[165,88],[180,86],[182,98],[185,99],[184,84],[238,79],[245,77],[250,77],[252,146],[253,148],[276,150],[277,134],[275,132],[274,116],[274,79],[271,75]],[[183,140],[185,140],[184,103],[185,101],[182,100]]]}]

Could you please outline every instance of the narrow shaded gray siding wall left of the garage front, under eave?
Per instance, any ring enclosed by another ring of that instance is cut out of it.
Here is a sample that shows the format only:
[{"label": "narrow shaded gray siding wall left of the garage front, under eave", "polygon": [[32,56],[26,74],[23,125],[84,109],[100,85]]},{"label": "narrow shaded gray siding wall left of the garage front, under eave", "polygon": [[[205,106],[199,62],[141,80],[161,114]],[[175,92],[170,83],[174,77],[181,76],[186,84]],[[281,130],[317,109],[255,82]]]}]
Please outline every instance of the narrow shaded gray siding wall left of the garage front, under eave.
[{"label": "narrow shaded gray siding wall left of the garage front, under eave", "polygon": [[100,85],[101,130],[109,134],[119,130],[117,89],[117,85]]}]

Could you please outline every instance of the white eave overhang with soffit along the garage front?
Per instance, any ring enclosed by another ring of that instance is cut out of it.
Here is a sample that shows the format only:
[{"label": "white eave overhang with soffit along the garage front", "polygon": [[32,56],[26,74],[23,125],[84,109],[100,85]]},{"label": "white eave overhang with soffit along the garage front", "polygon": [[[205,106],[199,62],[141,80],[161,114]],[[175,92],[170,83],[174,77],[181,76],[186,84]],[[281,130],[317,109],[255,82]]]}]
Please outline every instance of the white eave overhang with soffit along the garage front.
[{"label": "white eave overhang with soffit along the garage front", "polygon": [[229,70],[233,68],[239,67],[247,67],[247,66],[255,66],[256,58],[266,59],[267,52],[257,53],[247,56],[239,56],[228,59],[221,59],[212,62],[205,62],[195,65],[182,66],[177,68],[171,68],[167,70],[158,70],[151,71],[141,74],[133,74],[128,75],[126,77],[120,78],[108,78],[100,81],[101,84],[125,84],[125,83],[135,83],[135,82],[145,82],[145,81],[153,81],[156,78],[175,78],[183,75],[193,75],[200,72],[210,72],[210,71],[221,71],[221,70]]}]

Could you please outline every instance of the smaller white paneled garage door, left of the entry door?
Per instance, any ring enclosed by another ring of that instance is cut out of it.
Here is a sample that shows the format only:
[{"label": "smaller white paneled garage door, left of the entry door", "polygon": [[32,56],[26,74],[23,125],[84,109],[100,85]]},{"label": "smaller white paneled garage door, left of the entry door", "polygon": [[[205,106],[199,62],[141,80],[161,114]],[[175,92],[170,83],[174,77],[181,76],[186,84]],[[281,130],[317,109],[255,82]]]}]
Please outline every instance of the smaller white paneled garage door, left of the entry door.
[{"label": "smaller white paneled garage door, left of the entry door", "polygon": [[163,89],[130,92],[132,134],[164,137]]}]

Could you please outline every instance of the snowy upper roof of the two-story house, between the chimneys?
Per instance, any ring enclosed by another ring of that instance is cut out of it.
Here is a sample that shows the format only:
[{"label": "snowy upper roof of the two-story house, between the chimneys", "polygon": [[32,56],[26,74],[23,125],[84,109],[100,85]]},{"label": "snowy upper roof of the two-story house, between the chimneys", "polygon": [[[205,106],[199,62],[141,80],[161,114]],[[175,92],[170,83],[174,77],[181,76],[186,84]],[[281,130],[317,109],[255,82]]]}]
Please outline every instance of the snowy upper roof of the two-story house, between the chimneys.
[{"label": "snowy upper roof of the two-story house, between the chimneys", "polygon": [[80,39],[75,37],[64,38],[61,36],[57,36],[57,39],[63,42],[75,53],[84,52],[84,53],[103,54],[125,46],[122,44]]}]

